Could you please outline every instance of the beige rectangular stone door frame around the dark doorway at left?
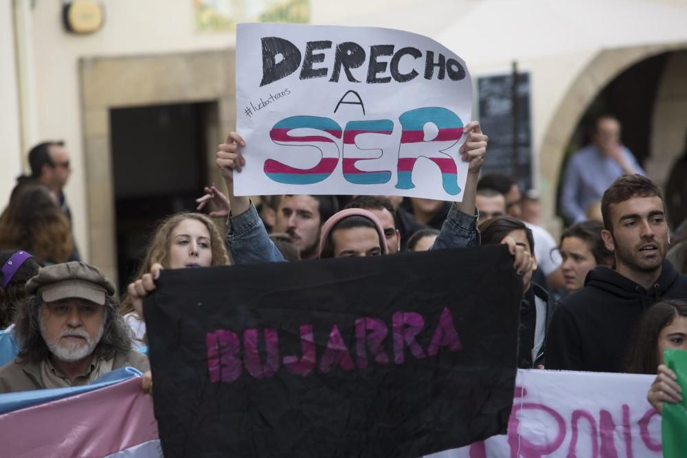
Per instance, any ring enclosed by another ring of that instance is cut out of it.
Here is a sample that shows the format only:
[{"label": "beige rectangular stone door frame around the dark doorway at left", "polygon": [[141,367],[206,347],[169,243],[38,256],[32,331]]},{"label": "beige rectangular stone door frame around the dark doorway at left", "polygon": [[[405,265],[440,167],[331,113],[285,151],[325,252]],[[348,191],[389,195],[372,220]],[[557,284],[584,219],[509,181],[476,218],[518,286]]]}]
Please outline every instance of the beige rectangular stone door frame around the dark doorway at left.
[{"label": "beige rectangular stone door frame around the dark doorway at left", "polygon": [[[79,62],[86,165],[91,262],[117,284],[115,208],[111,153],[111,108],[174,103],[216,102],[217,119],[207,144],[236,124],[234,50],[189,54],[83,58]],[[214,150],[207,151],[208,175],[221,182]],[[164,170],[164,169],[163,169]]]}]

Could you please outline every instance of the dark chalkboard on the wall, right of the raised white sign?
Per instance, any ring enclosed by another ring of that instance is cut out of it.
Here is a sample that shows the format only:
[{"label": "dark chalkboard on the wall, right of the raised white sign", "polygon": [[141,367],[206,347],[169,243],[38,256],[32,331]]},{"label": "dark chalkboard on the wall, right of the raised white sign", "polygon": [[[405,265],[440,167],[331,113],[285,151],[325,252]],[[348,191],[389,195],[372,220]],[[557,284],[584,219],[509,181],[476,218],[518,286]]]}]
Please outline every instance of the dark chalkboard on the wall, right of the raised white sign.
[{"label": "dark chalkboard on the wall, right of the raised white sign", "polygon": [[504,173],[517,179],[521,190],[532,187],[530,75],[517,74],[517,161],[513,160],[513,74],[477,78],[482,131],[489,148],[482,174]]}]

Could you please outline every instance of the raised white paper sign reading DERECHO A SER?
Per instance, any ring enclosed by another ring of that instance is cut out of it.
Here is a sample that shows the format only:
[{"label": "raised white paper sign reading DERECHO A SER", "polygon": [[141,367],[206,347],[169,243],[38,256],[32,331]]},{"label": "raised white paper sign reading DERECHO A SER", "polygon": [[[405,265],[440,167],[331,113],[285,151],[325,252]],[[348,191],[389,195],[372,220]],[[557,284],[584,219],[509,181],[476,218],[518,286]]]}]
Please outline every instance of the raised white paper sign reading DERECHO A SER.
[{"label": "raised white paper sign reading DERECHO A SER", "polygon": [[417,34],[240,24],[237,195],[387,194],[462,201],[465,63]]}]

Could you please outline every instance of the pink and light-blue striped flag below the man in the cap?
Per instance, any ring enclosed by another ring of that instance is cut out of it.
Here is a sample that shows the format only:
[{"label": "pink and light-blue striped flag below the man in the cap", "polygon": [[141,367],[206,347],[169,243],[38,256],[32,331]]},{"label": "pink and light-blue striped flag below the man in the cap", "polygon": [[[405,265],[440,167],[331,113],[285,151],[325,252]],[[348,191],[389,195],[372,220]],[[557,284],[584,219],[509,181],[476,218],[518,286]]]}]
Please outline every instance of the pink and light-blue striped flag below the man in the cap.
[{"label": "pink and light-blue striped flag below the man in the cap", "polygon": [[127,367],[85,387],[0,395],[0,455],[161,458],[140,375]]}]

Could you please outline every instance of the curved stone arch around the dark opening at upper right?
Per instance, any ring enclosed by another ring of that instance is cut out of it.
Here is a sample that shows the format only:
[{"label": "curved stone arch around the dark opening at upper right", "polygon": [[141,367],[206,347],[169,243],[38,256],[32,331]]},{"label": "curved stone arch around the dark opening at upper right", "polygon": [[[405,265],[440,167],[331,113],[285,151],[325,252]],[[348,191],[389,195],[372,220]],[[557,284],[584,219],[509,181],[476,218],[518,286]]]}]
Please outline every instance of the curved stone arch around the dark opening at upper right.
[{"label": "curved stone arch around the dark opening at upper right", "polygon": [[[559,108],[555,111],[546,133],[539,145],[539,188],[542,214],[556,214],[556,190],[559,186],[559,172],[563,165],[565,148],[570,142],[578,121],[596,95],[622,71],[646,58],[687,48],[687,43],[652,45],[606,49],[589,62],[572,83]],[[653,143],[652,143],[653,146]],[[560,222],[558,222],[558,225]],[[554,233],[556,222],[551,221],[549,229]],[[551,227],[552,226],[552,227]]]}]

